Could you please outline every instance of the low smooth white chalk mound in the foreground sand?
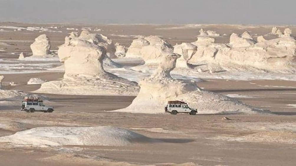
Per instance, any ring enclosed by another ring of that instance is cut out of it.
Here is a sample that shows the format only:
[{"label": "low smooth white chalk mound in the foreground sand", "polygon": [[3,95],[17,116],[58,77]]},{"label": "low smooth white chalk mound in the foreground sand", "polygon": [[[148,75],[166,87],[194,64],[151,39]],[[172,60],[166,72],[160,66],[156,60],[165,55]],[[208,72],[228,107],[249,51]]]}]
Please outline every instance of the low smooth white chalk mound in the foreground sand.
[{"label": "low smooth white chalk mound in the foreground sand", "polygon": [[155,142],[155,139],[112,126],[38,127],[0,137],[0,142],[34,147],[63,145],[125,146],[147,141]]}]

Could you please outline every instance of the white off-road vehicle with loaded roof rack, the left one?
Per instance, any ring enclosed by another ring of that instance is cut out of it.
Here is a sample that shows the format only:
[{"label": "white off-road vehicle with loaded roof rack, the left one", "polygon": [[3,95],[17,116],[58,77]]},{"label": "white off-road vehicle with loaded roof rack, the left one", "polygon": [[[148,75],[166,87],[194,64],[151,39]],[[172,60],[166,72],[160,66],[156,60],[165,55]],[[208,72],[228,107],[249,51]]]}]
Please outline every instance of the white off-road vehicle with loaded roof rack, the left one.
[{"label": "white off-road vehicle with loaded roof rack, the left one", "polygon": [[25,97],[24,101],[22,101],[22,104],[20,106],[20,110],[31,112],[31,113],[35,111],[52,112],[54,111],[54,108],[45,106],[43,104],[43,101],[36,97],[35,98]]}]

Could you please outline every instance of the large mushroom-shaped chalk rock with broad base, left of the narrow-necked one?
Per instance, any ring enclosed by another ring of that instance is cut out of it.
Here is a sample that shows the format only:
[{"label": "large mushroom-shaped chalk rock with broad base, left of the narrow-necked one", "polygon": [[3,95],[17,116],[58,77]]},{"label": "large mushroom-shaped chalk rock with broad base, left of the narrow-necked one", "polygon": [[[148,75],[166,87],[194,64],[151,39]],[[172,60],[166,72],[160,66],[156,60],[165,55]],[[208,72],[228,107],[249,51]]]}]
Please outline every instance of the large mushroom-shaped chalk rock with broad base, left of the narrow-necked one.
[{"label": "large mushroom-shaped chalk rock with broad base, left of the narrow-necked one", "polygon": [[61,45],[59,59],[65,64],[62,80],[43,83],[35,92],[72,95],[136,95],[139,87],[133,81],[108,73],[103,68],[104,47],[79,38]]}]

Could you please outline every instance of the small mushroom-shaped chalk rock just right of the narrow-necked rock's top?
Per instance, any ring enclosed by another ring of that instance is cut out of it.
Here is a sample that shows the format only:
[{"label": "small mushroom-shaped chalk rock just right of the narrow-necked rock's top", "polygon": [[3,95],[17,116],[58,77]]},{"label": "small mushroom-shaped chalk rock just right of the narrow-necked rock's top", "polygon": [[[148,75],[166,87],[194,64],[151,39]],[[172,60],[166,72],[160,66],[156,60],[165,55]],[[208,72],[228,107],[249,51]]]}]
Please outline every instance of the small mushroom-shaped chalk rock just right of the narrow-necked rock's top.
[{"label": "small mushroom-shaped chalk rock just right of the narrow-necked rock's top", "polygon": [[176,67],[178,68],[189,68],[188,60],[191,59],[192,55],[197,51],[197,46],[191,43],[182,43],[174,46],[174,53],[181,55],[177,59]]}]

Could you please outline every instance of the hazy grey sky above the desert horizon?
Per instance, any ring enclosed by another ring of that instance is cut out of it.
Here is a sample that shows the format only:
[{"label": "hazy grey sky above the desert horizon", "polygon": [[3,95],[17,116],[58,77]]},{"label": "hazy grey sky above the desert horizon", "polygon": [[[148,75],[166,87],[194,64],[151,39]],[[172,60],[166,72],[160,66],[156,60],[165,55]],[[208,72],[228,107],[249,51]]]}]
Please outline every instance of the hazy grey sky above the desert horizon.
[{"label": "hazy grey sky above the desert horizon", "polygon": [[296,24],[296,0],[0,0],[0,21]]}]

